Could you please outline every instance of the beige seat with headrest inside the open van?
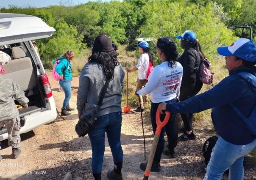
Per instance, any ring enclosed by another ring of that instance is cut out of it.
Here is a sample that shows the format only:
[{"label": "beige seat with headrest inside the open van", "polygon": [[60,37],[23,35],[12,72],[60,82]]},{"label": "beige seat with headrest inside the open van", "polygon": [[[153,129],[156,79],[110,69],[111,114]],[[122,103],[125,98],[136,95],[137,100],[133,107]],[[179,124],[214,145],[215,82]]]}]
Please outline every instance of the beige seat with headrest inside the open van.
[{"label": "beige seat with headrest inside the open van", "polygon": [[6,78],[13,79],[26,95],[33,95],[33,88],[37,87],[36,74],[30,57],[26,57],[21,46],[12,48],[13,60],[8,61],[3,67]]}]

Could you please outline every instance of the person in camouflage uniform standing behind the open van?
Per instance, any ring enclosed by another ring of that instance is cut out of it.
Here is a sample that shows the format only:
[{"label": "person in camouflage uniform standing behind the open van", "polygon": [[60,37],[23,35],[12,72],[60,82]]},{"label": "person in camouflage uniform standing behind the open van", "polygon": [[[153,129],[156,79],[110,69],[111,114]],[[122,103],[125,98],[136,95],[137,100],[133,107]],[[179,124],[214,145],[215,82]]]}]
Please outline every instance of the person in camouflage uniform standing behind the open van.
[{"label": "person in camouflage uniform standing behind the open van", "polygon": [[[0,127],[6,126],[8,132],[8,146],[12,147],[13,158],[18,158],[20,150],[19,111],[15,106],[16,99],[23,108],[28,108],[28,98],[25,97],[22,89],[11,79],[4,78],[5,71],[0,65]],[[1,158],[0,158],[1,159]]]}]

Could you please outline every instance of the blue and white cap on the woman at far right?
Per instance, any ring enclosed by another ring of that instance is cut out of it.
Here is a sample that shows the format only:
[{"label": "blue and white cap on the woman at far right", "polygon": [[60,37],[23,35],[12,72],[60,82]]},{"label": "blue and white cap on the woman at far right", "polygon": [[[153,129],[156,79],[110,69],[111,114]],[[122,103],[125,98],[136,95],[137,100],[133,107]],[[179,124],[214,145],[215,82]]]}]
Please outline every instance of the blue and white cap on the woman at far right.
[{"label": "blue and white cap on the woman at far right", "polygon": [[246,38],[239,38],[230,46],[218,47],[217,52],[223,56],[237,56],[250,62],[256,60],[256,44]]}]

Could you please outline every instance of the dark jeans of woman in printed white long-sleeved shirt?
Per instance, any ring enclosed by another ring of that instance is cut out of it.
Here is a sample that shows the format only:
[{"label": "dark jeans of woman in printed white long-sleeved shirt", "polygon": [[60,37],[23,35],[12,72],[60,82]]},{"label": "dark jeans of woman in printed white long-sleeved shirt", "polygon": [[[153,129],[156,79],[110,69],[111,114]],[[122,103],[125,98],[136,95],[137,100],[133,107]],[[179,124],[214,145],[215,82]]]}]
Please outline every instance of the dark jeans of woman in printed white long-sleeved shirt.
[{"label": "dark jeans of woman in printed white long-sleeved shirt", "polygon": [[[177,98],[172,99],[170,101],[166,101],[167,104],[172,104],[175,102],[177,102]],[[159,104],[160,103],[151,103],[150,117],[151,117],[151,123],[152,123],[152,128],[153,128],[154,134],[156,132],[156,110],[157,110],[157,107]],[[164,120],[164,117],[165,117],[165,114],[162,114],[160,116],[161,121]],[[164,150],[164,131],[167,134],[169,150],[174,150],[174,148],[177,146],[178,136],[177,136],[176,130],[174,128],[174,120],[175,120],[175,114],[171,114],[168,123],[161,130],[159,142],[157,144],[156,153],[155,153],[155,157],[154,157],[154,161],[156,161],[156,162],[160,162],[161,155]]]}]

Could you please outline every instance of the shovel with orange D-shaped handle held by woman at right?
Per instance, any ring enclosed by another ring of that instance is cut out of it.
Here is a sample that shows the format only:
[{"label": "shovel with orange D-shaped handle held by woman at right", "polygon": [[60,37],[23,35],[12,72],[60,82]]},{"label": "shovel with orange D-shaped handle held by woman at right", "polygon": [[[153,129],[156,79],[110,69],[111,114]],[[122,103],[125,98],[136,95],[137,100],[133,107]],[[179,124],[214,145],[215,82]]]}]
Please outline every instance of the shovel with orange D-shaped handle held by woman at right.
[{"label": "shovel with orange D-shaped handle held by woman at right", "polygon": [[150,175],[150,169],[151,169],[153,159],[154,159],[154,156],[155,156],[155,153],[156,153],[156,147],[157,147],[157,144],[158,144],[158,141],[159,141],[161,130],[168,123],[170,115],[171,115],[170,112],[167,112],[167,111],[165,112],[165,114],[166,115],[165,115],[164,121],[161,122],[161,120],[160,120],[161,112],[158,109],[156,111],[156,125],[157,125],[156,126],[156,133],[155,133],[153,144],[152,144],[152,147],[151,147],[151,150],[150,150],[149,158],[148,158],[148,161],[147,161],[147,167],[146,167],[146,170],[144,172],[143,180],[147,180],[149,175]]}]

